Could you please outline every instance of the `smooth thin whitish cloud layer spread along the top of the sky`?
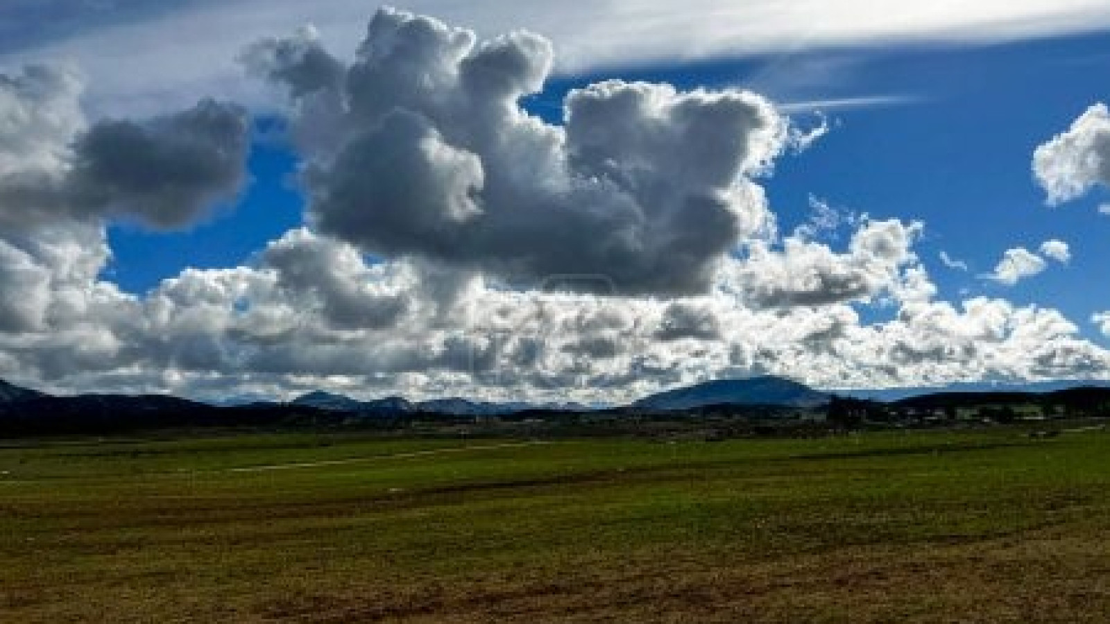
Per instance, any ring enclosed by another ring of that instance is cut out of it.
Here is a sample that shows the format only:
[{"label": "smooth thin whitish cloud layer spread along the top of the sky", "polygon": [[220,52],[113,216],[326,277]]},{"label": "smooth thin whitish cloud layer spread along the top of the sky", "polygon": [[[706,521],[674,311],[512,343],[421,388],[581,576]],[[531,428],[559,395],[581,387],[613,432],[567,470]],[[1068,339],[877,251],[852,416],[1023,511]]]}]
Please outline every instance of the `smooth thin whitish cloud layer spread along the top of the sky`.
[{"label": "smooth thin whitish cloud layer spread along the top of the sky", "polygon": [[[56,1],[52,19],[43,20],[39,11],[9,4],[0,9],[0,24],[8,27],[0,33],[9,34],[0,37],[7,43],[0,47],[0,63],[87,59],[94,102],[142,114],[189,105],[198,92],[265,103],[261,93],[235,80],[231,59],[243,44],[315,23],[329,48],[352,50],[364,34],[367,10],[357,0],[183,0],[172,7],[128,0],[102,11]],[[1012,41],[1110,26],[1110,10],[1101,0],[989,0],[960,7],[919,2],[898,11],[876,11],[867,0],[795,0],[788,7],[777,0],[397,4],[483,33],[522,27],[541,32],[561,50],[561,73],[890,42]]]}]

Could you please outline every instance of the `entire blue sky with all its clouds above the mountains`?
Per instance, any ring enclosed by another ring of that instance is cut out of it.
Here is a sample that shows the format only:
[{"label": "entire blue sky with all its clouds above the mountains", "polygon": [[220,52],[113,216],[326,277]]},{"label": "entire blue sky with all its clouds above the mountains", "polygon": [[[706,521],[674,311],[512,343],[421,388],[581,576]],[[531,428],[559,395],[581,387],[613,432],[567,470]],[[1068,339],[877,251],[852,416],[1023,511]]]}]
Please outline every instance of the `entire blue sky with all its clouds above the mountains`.
[{"label": "entire blue sky with all its clouds above the mountains", "polygon": [[4,3],[0,376],[1110,380],[1103,1],[398,4]]}]

